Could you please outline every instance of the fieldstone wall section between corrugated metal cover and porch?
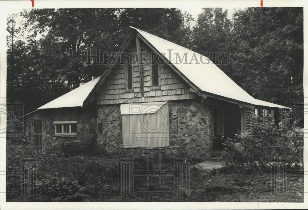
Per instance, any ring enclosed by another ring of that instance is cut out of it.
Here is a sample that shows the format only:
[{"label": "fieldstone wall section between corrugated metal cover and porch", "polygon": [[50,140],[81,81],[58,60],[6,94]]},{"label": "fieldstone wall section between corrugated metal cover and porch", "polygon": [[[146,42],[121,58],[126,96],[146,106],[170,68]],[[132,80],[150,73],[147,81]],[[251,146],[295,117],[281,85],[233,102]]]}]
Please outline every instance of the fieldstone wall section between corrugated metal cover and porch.
[{"label": "fieldstone wall section between corrugated metal cover and porch", "polygon": [[211,108],[201,100],[172,101],[169,104],[170,145],[198,149],[197,161],[212,156]]}]

